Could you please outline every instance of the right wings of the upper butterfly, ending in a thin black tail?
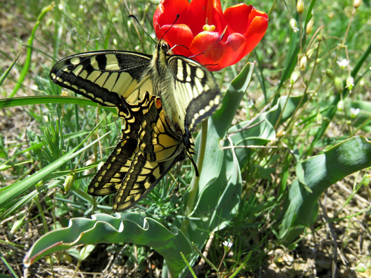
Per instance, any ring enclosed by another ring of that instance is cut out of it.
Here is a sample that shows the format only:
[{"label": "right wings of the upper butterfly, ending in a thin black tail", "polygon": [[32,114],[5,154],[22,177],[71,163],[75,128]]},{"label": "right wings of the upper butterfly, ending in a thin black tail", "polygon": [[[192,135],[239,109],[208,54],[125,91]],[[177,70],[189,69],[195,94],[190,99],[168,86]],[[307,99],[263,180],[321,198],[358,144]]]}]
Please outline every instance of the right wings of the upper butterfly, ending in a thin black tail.
[{"label": "right wings of the upper butterfly, ending in a thin black tail", "polygon": [[219,107],[220,90],[209,70],[187,57],[169,56],[167,67],[170,72],[168,79],[172,79],[173,87],[162,94],[164,109],[173,125],[180,128],[188,158],[198,176],[192,158],[195,151],[191,132]]}]

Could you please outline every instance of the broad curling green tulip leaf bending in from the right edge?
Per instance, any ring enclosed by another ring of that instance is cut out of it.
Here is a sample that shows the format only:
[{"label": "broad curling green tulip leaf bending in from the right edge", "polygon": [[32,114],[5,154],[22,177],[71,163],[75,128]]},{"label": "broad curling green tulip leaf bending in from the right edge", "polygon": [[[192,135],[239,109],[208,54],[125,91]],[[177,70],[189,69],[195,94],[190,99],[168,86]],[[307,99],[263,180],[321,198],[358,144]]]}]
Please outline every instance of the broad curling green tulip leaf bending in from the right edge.
[{"label": "broad curling green tulip leaf bending in from the right edge", "polygon": [[329,186],[371,166],[371,143],[364,136],[355,136],[301,164],[304,181],[312,193],[298,179],[291,184],[278,233],[285,242],[292,242],[305,227],[313,224],[318,213],[318,198]]}]

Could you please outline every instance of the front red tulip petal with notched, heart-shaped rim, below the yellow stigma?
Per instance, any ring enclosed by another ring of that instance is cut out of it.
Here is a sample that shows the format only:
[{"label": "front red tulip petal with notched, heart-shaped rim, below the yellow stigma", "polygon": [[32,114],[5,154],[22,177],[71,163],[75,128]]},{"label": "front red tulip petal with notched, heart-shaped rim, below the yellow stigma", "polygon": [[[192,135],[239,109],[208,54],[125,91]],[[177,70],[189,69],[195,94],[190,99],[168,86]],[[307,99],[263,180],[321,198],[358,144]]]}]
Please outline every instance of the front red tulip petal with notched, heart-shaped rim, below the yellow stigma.
[{"label": "front red tulip petal with notched, heart-shaped rim, below the yellow stigma", "polygon": [[230,66],[244,49],[246,39],[238,33],[231,34],[225,43],[220,41],[217,32],[204,31],[198,34],[190,46],[190,51],[200,54],[192,59],[206,66],[210,71],[217,71]]}]

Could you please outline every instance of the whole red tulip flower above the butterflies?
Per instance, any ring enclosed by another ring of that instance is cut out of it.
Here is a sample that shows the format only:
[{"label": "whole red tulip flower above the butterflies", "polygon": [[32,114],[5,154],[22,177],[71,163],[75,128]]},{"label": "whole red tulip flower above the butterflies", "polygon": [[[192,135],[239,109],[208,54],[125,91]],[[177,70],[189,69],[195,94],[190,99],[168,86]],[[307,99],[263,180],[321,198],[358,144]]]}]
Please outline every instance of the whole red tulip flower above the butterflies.
[{"label": "whole red tulip flower above the butterflies", "polygon": [[162,0],[153,23],[158,39],[167,32],[163,39],[170,47],[177,45],[174,54],[194,56],[191,58],[210,71],[217,71],[254,49],[267,30],[268,16],[246,4],[223,13],[220,0]]}]

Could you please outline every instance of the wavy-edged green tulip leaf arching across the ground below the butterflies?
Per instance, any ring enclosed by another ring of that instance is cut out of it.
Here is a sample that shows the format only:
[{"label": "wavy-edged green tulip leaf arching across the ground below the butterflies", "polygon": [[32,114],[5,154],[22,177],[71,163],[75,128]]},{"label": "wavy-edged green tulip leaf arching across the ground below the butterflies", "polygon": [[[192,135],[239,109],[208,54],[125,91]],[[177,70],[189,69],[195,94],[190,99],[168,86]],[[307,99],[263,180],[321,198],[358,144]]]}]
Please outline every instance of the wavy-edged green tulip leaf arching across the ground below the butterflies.
[{"label": "wavy-edged green tulip leaf arching across the ground below the butterflies", "polygon": [[[23,259],[26,267],[52,252],[68,249],[79,244],[96,244],[101,242],[134,244],[152,247],[164,257],[168,270],[176,277],[184,269],[180,256],[192,253],[188,239],[174,228],[169,231],[160,222],[143,213],[126,211],[115,216],[95,214],[88,218],[72,218],[67,228],[56,229],[39,238]],[[84,254],[79,254],[82,258]]]}]

